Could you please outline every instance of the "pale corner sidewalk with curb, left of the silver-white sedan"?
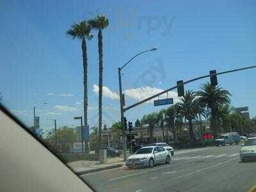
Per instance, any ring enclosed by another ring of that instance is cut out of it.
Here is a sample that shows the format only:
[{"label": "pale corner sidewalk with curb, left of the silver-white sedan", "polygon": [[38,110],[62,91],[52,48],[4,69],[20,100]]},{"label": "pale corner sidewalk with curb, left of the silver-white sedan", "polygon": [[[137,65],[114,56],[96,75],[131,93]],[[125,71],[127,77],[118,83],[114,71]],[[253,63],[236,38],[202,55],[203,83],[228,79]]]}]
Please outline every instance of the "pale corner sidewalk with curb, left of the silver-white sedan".
[{"label": "pale corner sidewalk with curb, left of the silver-white sedan", "polygon": [[109,170],[113,168],[118,168],[124,165],[124,159],[120,157],[108,157],[108,163],[102,164],[99,161],[74,161],[67,163],[67,165],[75,172],[77,175],[83,175],[87,173],[100,172],[103,170]]}]

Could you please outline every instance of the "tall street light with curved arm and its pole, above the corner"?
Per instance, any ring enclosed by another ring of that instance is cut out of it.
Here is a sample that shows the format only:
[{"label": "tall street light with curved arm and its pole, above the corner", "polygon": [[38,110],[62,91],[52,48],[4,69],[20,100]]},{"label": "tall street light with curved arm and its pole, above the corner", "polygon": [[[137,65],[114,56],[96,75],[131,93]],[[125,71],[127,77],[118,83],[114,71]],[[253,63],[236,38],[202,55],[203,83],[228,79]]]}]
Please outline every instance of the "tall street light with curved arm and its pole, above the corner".
[{"label": "tall street light with curved arm and its pole, above the corner", "polygon": [[135,56],[131,58],[131,60],[127,61],[127,63],[124,64],[123,67],[118,67],[118,81],[119,81],[119,98],[120,98],[120,111],[121,111],[121,128],[122,128],[122,141],[123,141],[123,150],[124,150],[124,161],[127,158],[126,154],[126,137],[125,137],[125,129],[124,129],[124,102],[123,102],[123,92],[122,92],[122,81],[121,81],[121,70],[128,64],[130,63],[134,58],[139,56],[140,54],[143,54],[144,52],[148,51],[156,51],[157,48],[154,47],[152,49],[148,49],[147,51],[142,51]]}]

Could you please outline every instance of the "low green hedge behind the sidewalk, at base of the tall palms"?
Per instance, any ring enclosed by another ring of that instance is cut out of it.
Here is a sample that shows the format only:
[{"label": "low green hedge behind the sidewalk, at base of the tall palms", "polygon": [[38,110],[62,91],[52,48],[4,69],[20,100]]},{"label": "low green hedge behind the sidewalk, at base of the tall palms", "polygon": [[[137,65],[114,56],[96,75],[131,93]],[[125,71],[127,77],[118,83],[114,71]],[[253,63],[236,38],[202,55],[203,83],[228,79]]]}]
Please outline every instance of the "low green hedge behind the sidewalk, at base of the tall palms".
[{"label": "low green hedge behind the sidewalk, at base of the tall palms", "polygon": [[65,163],[72,161],[99,161],[99,154],[57,154]]}]

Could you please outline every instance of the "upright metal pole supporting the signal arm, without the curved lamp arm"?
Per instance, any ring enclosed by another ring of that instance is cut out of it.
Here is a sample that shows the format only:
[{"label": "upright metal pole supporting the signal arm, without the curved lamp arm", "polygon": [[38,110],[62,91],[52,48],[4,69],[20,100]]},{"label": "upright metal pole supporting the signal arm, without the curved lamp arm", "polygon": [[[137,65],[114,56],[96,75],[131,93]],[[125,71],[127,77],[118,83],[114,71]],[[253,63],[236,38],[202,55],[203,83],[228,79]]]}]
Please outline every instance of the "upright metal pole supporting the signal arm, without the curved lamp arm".
[{"label": "upright metal pole supporting the signal arm, without the curved lamp arm", "polygon": [[123,139],[123,153],[124,153],[124,161],[126,161],[126,135],[124,130],[124,105],[122,102],[122,82],[121,82],[121,68],[118,68],[118,81],[119,81],[119,99],[120,99],[120,112],[121,112],[121,129],[122,129],[122,139]]}]

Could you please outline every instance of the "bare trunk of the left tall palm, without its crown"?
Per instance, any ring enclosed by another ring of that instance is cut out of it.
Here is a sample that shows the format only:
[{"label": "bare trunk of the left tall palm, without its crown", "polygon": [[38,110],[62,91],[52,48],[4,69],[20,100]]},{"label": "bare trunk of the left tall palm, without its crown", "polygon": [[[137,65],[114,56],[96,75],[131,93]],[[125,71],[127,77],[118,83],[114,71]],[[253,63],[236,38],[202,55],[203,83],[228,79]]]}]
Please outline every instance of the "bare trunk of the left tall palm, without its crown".
[{"label": "bare trunk of the left tall palm, without its crown", "polygon": [[[88,108],[88,91],[87,91],[87,47],[86,47],[86,40],[82,40],[82,52],[83,52],[83,68],[84,68],[84,126],[85,129],[88,125],[87,120],[87,108]],[[88,141],[85,141],[85,152],[89,152],[88,148]]]}]

